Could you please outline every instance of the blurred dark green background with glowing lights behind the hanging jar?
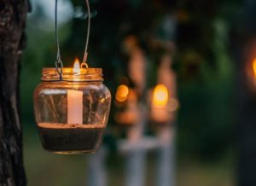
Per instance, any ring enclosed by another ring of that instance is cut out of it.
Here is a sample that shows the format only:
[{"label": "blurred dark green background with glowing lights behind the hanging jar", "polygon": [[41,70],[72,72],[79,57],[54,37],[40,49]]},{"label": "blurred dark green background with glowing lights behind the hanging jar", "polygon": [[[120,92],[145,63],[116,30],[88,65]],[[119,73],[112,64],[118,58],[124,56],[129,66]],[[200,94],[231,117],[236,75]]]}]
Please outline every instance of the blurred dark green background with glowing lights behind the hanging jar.
[{"label": "blurred dark green background with glowing lights behind the hanging jar", "polygon": [[[90,0],[89,66],[102,67],[113,97],[93,155],[41,147],[32,93],[42,68],[55,67],[55,2],[31,6],[20,80],[28,185],[255,185],[241,183],[256,157],[256,2]],[[73,67],[84,54],[85,3],[59,0],[58,14],[61,59]]]}]

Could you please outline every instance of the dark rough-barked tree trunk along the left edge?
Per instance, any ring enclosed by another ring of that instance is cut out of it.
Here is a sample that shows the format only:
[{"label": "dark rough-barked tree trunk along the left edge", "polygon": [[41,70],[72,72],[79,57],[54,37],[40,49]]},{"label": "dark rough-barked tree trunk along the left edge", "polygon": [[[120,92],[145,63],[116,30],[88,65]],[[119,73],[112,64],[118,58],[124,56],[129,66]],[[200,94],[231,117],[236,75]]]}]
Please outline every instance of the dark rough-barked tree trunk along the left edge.
[{"label": "dark rough-barked tree trunk along the left edge", "polygon": [[27,0],[0,1],[0,185],[26,185],[19,111]]}]

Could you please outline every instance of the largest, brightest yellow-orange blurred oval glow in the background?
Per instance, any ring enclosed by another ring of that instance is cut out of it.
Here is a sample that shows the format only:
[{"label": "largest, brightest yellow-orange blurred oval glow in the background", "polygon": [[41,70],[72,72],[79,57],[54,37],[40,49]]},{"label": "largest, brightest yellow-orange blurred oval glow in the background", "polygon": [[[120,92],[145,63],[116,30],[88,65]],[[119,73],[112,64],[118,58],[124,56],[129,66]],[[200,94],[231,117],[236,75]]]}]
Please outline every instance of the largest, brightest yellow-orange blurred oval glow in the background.
[{"label": "largest, brightest yellow-orange blurred oval glow in the background", "polygon": [[158,84],[154,88],[153,105],[156,108],[165,108],[169,100],[169,94],[164,84]]}]

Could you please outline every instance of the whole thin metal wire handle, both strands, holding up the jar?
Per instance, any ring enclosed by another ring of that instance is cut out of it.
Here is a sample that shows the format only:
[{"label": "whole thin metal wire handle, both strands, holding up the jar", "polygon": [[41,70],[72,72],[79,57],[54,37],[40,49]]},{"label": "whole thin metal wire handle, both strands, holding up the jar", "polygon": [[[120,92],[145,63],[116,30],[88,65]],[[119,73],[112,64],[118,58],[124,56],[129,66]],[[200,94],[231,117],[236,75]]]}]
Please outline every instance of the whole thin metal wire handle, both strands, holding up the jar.
[{"label": "whole thin metal wire handle, both strands, holding up the jar", "polygon": [[[86,36],[86,42],[85,42],[85,49],[84,49],[84,59],[81,64],[81,67],[86,67],[88,68],[87,65],[87,49],[88,49],[88,43],[89,43],[89,38],[90,38],[90,3],[88,0],[85,0],[87,11],[88,11],[88,25],[87,25],[87,36]],[[56,60],[55,60],[55,67],[57,73],[60,75],[60,80],[62,81],[62,72],[63,72],[63,63],[61,61],[61,49],[60,49],[60,44],[59,44],[59,36],[58,36],[58,0],[55,0],[55,40],[56,40],[56,45],[57,45],[57,55],[56,55]]]}]

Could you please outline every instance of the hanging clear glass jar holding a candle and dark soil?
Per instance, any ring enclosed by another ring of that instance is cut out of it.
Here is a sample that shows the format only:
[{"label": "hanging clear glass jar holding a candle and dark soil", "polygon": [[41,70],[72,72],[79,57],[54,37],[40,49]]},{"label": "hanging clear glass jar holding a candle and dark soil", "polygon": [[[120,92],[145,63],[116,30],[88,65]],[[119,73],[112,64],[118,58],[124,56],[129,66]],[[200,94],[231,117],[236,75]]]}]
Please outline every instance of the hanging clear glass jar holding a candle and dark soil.
[{"label": "hanging clear glass jar holding a candle and dark soil", "polygon": [[111,94],[102,69],[44,68],[34,91],[38,132],[45,150],[58,154],[92,153],[102,141]]}]

